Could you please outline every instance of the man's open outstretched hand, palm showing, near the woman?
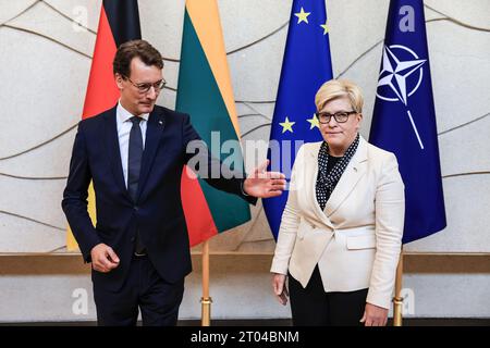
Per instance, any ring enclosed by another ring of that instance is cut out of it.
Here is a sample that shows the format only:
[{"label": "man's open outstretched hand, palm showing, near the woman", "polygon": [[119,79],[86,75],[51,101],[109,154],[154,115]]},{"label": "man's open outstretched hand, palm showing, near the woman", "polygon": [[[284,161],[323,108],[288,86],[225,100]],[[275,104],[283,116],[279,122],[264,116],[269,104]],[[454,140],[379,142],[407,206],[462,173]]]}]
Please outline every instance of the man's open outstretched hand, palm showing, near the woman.
[{"label": "man's open outstretched hand, palm showing, near the woman", "polygon": [[285,189],[285,176],[279,172],[266,172],[269,160],[256,167],[243,183],[245,194],[259,198],[280,196]]}]

